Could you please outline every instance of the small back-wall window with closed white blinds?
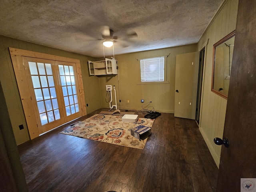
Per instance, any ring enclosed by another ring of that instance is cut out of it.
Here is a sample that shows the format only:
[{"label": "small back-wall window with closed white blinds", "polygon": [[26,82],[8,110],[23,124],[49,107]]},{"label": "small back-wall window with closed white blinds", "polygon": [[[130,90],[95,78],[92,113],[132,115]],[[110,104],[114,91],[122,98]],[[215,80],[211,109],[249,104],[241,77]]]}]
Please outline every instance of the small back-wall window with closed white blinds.
[{"label": "small back-wall window with closed white blinds", "polygon": [[164,57],[140,60],[141,82],[164,81]]}]

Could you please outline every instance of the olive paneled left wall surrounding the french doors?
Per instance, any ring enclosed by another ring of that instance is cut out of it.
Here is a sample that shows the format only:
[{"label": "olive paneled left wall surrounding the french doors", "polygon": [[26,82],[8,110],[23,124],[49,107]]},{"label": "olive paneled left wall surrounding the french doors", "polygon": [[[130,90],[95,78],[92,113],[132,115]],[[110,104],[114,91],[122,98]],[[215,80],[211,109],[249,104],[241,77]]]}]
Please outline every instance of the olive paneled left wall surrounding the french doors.
[{"label": "olive paneled left wall surrounding the french doors", "polygon": [[[30,138],[8,47],[79,59],[82,70],[85,101],[88,104],[86,111],[87,113],[90,113],[101,108],[99,78],[88,75],[87,61],[95,60],[94,58],[0,36],[0,82],[2,84],[4,98],[6,100],[17,144],[24,143]],[[0,102],[3,101],[1,100]],[[23,130],[19,129],[19,125],[21,124],[24,125]]]}]

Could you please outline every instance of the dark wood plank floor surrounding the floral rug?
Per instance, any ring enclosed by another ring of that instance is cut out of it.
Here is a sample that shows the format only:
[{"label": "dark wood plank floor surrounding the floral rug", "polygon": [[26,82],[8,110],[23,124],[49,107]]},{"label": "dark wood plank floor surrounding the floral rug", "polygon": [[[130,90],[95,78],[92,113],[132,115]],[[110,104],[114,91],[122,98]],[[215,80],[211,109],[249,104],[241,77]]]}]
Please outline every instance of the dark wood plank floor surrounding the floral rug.
[{"label": "dark wood plank floor surrounding the floral rug", "polygon": [[18,146],[29,191],[216,190],[218,168],[194,120],[162,113],[143,150],[60,134],[64,129]]}]

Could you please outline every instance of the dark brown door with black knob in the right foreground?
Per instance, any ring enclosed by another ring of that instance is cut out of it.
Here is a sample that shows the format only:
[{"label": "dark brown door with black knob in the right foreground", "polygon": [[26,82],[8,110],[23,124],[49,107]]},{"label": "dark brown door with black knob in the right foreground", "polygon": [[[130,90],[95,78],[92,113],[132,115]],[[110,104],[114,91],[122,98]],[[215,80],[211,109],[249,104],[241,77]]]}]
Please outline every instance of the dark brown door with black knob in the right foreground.
[{"label": "dark brown door with black knob in the right foreground", "polygon": [[[246,14],[245,14],[246,13]],[[218,192],[256,191],[256,2],[240,0],[218,175]],[[245,183],[240,178],[249,178]],[[253,182],[254,181],[254,182]]]}]

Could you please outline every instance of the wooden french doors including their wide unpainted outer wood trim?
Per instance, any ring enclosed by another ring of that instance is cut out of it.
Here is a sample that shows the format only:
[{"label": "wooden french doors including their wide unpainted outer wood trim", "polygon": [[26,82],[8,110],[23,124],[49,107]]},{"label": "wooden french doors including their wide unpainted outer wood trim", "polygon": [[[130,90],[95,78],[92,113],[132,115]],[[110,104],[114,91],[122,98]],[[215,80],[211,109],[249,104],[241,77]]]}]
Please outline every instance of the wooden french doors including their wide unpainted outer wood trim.
[{"label": "wooden french doors including their wide unpainted outer wood trim", "polygon": [[86,115],[80,60],[9,50],[30,139]]}]

